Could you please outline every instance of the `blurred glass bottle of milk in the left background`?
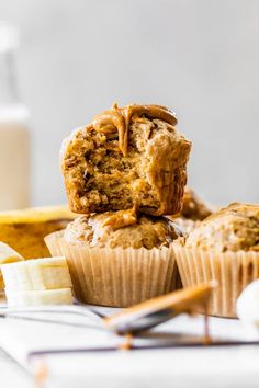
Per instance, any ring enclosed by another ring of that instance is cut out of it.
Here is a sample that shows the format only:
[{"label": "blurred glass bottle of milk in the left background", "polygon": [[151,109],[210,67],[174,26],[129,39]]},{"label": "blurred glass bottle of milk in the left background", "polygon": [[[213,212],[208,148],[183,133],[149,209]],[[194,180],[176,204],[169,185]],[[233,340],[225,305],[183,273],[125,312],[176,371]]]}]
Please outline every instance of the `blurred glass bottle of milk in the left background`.
[{"label": "blurred glass bottle of milk in the left background", "polygon": [[18,31],[0,22],[0,210],[30,204],[29,111],[18,93]]}]

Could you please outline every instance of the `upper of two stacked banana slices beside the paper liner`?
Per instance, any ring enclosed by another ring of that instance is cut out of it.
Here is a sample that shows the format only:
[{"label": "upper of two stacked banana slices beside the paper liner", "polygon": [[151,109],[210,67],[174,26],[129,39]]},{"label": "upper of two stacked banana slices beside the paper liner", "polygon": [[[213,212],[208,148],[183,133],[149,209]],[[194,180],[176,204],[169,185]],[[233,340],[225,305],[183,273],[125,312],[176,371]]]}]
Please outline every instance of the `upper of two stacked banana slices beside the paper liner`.
[{"label": "upper of two stacked banana slices beside the paper liner", "polygon": [[26,260],[1,265],[5,290],[71,288],[65,258]]}]

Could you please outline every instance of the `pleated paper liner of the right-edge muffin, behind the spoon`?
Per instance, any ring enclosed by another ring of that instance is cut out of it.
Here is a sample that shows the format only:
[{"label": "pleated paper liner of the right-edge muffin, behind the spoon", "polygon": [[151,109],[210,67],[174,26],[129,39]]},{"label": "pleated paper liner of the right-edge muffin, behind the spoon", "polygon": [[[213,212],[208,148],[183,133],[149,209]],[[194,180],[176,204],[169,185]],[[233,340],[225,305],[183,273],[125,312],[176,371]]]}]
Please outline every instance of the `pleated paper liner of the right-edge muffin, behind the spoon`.
[{"label": "pleated paper liner of the right-edge muffin, behind the spoon", "polygon": [[217,281],[209,313],[236,318],[238,296],[259,277],[259,252],[209,252],[184,248],[178,241],[172,246],[183,287]]}]

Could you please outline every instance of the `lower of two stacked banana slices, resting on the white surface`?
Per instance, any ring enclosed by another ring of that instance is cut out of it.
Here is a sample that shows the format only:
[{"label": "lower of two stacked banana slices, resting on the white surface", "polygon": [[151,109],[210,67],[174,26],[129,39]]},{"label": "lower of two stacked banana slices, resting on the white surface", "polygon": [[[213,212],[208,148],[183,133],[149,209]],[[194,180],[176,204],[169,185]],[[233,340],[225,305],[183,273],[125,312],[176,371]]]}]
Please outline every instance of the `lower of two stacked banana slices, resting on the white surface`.
[{"label": "lower of two stacked banana slices, resting on the white surface", "polygon": [[5,296],[10,307],[72,304],[71,288],[45,290],[13,290],[5,288]]}]

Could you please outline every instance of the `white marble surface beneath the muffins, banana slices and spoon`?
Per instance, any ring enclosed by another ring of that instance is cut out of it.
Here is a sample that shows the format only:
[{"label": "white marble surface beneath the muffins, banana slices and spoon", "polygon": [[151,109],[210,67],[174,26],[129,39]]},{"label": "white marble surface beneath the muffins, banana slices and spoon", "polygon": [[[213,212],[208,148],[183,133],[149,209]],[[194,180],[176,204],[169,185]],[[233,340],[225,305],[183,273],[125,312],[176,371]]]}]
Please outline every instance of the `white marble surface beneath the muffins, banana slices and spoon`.
[{"label": "white marble surface beneath the muffins, banana slices and spoon", "polygon": [[[202,333],[203,318],[182,316],[160,326],[157,331],[174,335],[179,332]],[[237,320],[212,318],[211,332],[213,338],[222,339],[259,338],[258,334],[250,336]],[[19,319],[0,320],[0,342],[24,365],[24,355],[32,350],[44,346],[55,349],[60,346],[60,341],[65,347],[69,344],[83,346],[94,343],[94,335],[99,343],[111,340],[88,328],[66,328]],[[259,345],[176,347],[48,354],[34,357],[29,367],[36,370],[38,366],[44,366],[47,378],[43,387],[46,388],[254,388],[259,386],[258,360]],[[2,355],[0,362],[4,369],[4,386],[1,385],[1,388],[34,386],[30,376],[10,357]]]}]

